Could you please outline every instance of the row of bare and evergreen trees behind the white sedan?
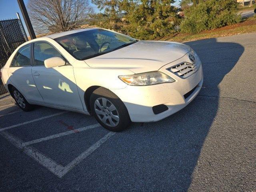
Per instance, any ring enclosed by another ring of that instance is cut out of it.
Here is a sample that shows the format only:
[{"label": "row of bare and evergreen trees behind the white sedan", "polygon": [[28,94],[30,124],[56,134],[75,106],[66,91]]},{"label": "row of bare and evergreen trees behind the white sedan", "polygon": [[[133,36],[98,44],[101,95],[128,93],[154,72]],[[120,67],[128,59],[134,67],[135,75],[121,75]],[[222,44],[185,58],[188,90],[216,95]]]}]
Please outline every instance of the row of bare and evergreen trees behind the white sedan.
[{"label": "row of bare and evergreen trees behind the white sedan", "polygon": [[[36,30],[61,32],[82,24],[152,40],[176,32],[198,33],[240,22],[236,0],[29,0]],[[184,16],[180,13],[184,13]]]}]

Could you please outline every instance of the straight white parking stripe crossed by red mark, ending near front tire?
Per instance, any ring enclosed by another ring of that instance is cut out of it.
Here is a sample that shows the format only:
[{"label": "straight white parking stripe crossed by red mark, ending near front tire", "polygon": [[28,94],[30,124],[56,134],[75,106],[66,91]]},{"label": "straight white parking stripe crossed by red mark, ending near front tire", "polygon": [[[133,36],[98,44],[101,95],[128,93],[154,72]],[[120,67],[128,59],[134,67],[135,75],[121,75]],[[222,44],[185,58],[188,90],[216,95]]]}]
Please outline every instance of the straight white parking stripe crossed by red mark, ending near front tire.
[{"label": "straight white parking stripe crossed by red mark, ending near front tire", "polygon": [[47,136],[47,137],[44,137],[44,138],[24,142],[24,143],[22,143],[21,146],[24,147],[24,146],[32,145],[32,144],[39,143],[39,142],[42,142],[42,141],[47,141],[47,140],[50,140],[50,139],[62,137],[62,136],[65,136],[65,135],[70,135],[70,134],[73,134],[73,133],[82,132],[82,131],[92,129],[92,128],[96,128],[96,127],[99,127],[99,126],[100,126],[100,124],[89,125],[89,126],[82,127],[82,128],[79,128],[79,129],[74,129],[74,130],[71,130],[71,131],[66,131],[66,132],[50,135],[50,136]]}]

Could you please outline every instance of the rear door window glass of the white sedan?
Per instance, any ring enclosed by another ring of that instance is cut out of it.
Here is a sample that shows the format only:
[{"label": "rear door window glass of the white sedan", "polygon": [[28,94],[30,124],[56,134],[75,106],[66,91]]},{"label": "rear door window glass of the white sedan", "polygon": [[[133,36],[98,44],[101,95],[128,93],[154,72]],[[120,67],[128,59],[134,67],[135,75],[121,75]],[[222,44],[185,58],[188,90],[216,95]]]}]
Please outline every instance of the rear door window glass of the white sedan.
[{"label": "rear door window glass of the white sedan", "polygon": [[12,60],[11,67],[30,66],[30,45],[20,48]]}]

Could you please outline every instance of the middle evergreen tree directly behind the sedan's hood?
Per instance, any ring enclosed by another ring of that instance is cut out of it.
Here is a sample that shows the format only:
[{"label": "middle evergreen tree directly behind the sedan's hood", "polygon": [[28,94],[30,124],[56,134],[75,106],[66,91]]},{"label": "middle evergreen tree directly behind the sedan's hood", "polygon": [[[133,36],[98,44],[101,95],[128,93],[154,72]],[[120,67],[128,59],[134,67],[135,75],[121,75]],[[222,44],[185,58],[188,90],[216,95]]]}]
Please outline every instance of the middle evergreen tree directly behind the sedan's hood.
[{"label": "middle evergreen tree directly behind the sedan's hood", "polygon": [[175,0],[124,0],[120,4],[126,13],[123,30],[134,38],[154,39],[175,32],[178,8]]}]

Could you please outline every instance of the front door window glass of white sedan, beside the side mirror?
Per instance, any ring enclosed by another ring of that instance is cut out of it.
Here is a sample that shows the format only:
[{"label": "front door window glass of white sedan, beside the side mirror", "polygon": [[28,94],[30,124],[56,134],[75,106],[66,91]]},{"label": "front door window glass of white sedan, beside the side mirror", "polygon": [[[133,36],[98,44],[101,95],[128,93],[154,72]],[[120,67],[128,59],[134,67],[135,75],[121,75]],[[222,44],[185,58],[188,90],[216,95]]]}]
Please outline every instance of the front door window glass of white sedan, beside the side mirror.
[{"label": "front door window glass of white sedan, beside the side mirror", "polygon": [[52,45],[46,42],[35,42],[34,43],[34,65],[44,66],[44,60],[51,57],[63,56],[54,48]]}]

